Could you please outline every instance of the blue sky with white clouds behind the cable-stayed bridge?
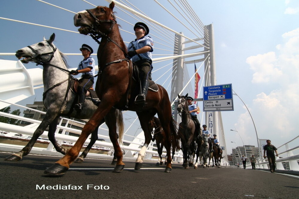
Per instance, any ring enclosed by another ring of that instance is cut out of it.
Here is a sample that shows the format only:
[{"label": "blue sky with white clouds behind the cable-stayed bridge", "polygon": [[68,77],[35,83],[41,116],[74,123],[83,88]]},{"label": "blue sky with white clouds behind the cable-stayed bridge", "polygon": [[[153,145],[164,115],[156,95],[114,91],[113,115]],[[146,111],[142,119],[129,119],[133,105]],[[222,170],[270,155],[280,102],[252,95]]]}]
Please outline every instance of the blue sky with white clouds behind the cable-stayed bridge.
[{"label": "blue sky with white clouds behind the cable-stayed bridge", "polygon": [[[47,2],[73,12],[93,8],[92,5],[81,0],[47,0]],[[89,2],[95,5],[109,5],[104,0],[90,0]],[[159,23],[177,32],[183,32],[190,38],[195,38],[194,34],[178,24],[154,0],[130,2]],[[144,2],[146,2],[146,6],[144,6]],[[234,92],[244,101],[251,112],[259,138],[270,139],[272,144],[278,147],[297,137],[299,134],[297,130],[299,129],[297,119],[299,114],[299,2],[295,0],[189,0],[188,2],[204,25],[213,24],[217,85],[232,84]],[[168,1],[163,0],[159,3],[167,7],[171,13],[176,13]],[[117,17],[127,20],[131,24],[135,24],[138,20],[129,17],[118,8],[115,8],[114,11],[117,12]],[[78,29],[73,23],[74,13],[37,0],[2,1],[0,13],[0,17],[3,18],[71,31]],[[177,14],[176,16],[182,18]],[[121,35],[125,42],[130,42],[135,37],[132,34],[133,27],[122,19],[118,19],[120,28],[125,30],[121,31]],[[97,44],[89,36],[78,33],[3,19],[0,19],[0,26],[0,53],[14,53],[22,47],[42,41],[43,36],[49,38],[53,32],[56,34],[54,44],[63,53],[80,53],[79,48],[83,43],[89,44],[94,49],[97,48]],[[156,42],[155,48],[173,50],[171,42],[168,44],[169,41],[160,39],[160,36],[158,37],[153,31],[150,33]],[[155,49],[153,54],[153,58],[155,58],[159,57],[157,54],[166,56],[166,54],[171,55],[172,53]],[[17,60],[15,56],[4,55],[0,55],[0,59]],[[81,59],[81,55],[70,55],[68,64],[77,67]],[[166,64],[157,63],[154,65],[154,70],[164,65]],[[196,65],[199,67],[200,63]],[[27,64],[25,67],[40,66]],[[188,68],[193,71],[194,64]],[[153,73],[153,80],[158,79],[168,69]],[[200,69],[201,81],[204,79],[203,73],[203,69]],[[157,83],[162,84],[164,80],[165,78],[160,78]],[[167,87],[167,84],[164,87]],[[42,91],[36,90],[35,96],[22,100],[19,104],[32,104],[34,100],[41,101],[41,93]],[[202,90],[199,96],[202,96]],[[228,154],[237,145],[242,146],[242,140],[245,145],[257,146],[257,137],[251,116],[236,95],[233,100],[234,111],[222,112]],[[202,104],[199,104],[199,107],[202,109]],[[125,114],[128,114],[124,116],[127,122],[135,119],[129,113]],[[200,114],[202,117],[202,112]],[[138,124],[134,125],[136,130],[131,130],[132,135],[141,131],[138,129]],[[237,130],[240,136],[230,129]],[[284,151],[285,149],[279,150]]]}]

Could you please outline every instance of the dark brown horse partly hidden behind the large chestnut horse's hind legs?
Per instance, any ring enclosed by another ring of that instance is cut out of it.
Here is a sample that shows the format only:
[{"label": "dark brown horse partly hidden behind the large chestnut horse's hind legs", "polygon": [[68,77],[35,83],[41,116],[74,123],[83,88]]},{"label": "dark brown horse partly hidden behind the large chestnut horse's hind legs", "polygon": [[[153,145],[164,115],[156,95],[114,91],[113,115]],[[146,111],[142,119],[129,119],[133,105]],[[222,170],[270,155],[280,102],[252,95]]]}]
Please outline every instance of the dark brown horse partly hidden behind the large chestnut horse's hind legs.
[{"label": "dark brown horse partly hidden behind the large chestnut horse's hind legs", "polygon": [[[158,159],[158,162],[156,163],[156,166],[160,166],[163,164],[162,152],[163,152],[164,142],[166,139],[165,132],[161,126],[159,118],[153,117],[149,121],[149,125],[150,125],[150,127],[152,129],[152,133],[153,133],[152,141],[156,141],[157,150],[158,150],[158,154],[159,154],[159,159]],[[173,147],[171,162],[173,162],[173,156],[176,152],[176,148],[178,149],[179,146]],[[167,160],[165,160],[165,164],[167,164]]]}]

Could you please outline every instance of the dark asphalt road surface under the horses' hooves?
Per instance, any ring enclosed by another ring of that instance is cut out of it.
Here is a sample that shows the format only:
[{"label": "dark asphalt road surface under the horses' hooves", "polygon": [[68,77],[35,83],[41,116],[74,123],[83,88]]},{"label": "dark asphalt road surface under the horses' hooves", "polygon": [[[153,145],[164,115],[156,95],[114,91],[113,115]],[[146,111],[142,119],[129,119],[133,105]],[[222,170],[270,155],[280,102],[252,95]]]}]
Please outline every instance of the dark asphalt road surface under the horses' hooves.
[{"label": "dark asphalt road surface under the horses' hooves", "polygon": [[0,152],[0,198],[299,198],[298,177],[260,170],[173,164],[165,173],[164,165],[148,162],[134,170],[135,163],[125,161],[121,173],[112,173],[111,161],[86,159],[61,177],[49,177],[44,170],[59,157],[4,161],[8,155]]}]

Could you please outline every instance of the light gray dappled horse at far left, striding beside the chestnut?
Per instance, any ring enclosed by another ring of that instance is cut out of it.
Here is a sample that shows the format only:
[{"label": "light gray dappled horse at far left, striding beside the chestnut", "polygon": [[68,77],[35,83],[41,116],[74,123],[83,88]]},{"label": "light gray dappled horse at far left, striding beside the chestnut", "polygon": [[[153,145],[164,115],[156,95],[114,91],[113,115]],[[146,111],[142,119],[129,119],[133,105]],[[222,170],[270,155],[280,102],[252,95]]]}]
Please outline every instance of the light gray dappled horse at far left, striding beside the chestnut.
[{"label": "light gray dappled horse at far left, striding beside the chestnut", "polygon": [[[76,94],[70,89],[70,82],[74,80],[67,70],[67,64],[63,54],[54,46],[53,41],[55,34],[53,33],[49,40],[44,38],[44,41],[24,47],[16,52],[16,57],[22,59],[22,63],[27,64],[30,61],[42,65],[43,68],[43,102],[47,108],[44,119],[35,130],[31,140],[19,152],[5,158],[6,161],[19,161],[23,156],[28,155],[31,151],[37,138],[49,126],[48,138],[54,145],[55,149],[66,154],[67,148],[60,146],[55,139],[55,130],[59,116],[70,116],[78,119],[89,119],[94,114],[97,106],[89,99],[85,99],[84,107],[81,112],[73,109]],[[122,112],[116,109],[111,109],[108,115],[111,115],[106,124],[110,129],[116,129],[116,121],[119,127],[120,138],[123,133],[123,116]],[[100,124],[103,124],[104,120]],[[84,152],[78,158],[79,162],[83,161],[87,153],[91,149],[95,141],[97,141],[97,129],[92,133],[91,141]]]}]

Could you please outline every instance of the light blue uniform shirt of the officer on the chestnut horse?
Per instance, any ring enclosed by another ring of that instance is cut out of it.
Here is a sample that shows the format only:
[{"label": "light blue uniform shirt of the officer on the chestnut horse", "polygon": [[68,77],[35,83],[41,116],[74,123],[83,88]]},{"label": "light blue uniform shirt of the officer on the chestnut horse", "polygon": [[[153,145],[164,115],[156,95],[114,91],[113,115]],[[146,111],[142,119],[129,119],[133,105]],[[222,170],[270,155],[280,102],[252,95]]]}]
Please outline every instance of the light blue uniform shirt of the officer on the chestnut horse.
[{"label": "light blue uniform shirt of the officer on the chestnut horse", "polygon": [[129,43],[128,45],[128,50],[138,50],[141,49],[144,46],[149,46],[151,47],[151,50],[147,53],[141,53],[138,55],[134,55],[132,57],[132,61],[139,61],[141,59],[147,59],[149,61],[152,61],[152,51],[153,51],[153,46],[154,46],[154,42],[152,41],[152,38],[150,36],[144,36],[141,37],[140,39],[135,39],[134,41],[131,41],[131,43]]}]

